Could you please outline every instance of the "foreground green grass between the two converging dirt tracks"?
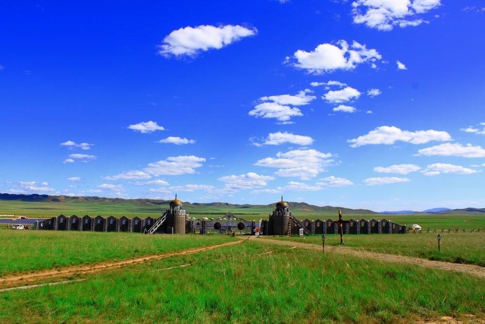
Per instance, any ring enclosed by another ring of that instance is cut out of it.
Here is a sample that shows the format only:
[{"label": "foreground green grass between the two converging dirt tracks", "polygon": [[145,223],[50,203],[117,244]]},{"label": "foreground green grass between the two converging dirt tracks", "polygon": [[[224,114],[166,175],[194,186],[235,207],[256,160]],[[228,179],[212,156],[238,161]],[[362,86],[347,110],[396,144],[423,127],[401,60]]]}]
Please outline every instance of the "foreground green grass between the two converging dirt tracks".
[{"label": "foreground green grass between the two converging dirt tracks", "polygon": [[[182,264],[191,266],[163,270]],[[409,323],[485,315],[481,278],[252,241],[86,278],[0,293],[0,322]]]}]

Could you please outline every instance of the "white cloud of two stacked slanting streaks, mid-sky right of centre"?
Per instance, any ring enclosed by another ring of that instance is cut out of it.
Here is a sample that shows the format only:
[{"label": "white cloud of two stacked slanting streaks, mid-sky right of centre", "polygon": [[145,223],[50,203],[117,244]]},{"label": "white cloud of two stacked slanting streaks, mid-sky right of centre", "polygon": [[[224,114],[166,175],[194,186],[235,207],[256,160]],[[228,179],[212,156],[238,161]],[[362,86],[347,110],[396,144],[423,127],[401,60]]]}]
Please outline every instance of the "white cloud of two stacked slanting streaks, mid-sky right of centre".
[{"label": "white cloud of two stacked slanting streaks, mid-sky right of centre", "polygon": [[313,91],[305,89],[296,95],[277,95],[259,98],[259,103],[249,112],[249,116],[260,118],[274,118],[283,123],[288,123],[291,117],[303,116],[297,107],[307,105],[317,97],[307,95]]}]

